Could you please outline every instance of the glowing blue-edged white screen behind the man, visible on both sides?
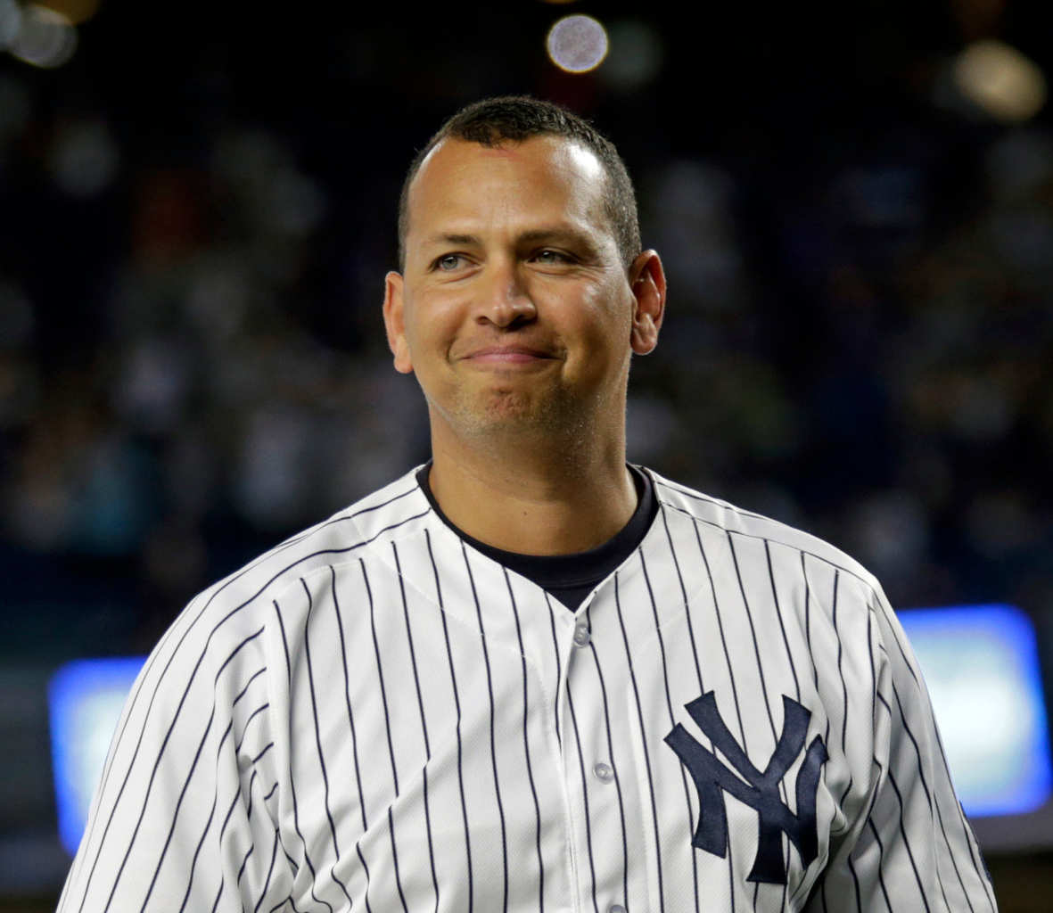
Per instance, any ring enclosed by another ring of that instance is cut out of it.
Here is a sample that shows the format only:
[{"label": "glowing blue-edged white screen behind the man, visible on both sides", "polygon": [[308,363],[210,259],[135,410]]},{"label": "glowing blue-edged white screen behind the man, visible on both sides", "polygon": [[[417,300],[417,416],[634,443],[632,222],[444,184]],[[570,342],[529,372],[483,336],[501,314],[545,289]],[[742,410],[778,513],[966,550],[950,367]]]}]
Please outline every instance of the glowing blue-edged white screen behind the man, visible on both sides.
[{"label": "glowing blue-edged white screen behind the man, visible on both sides", "polygon": [[[1033,811],[1053,794],[1038,646],[1011,606],[897,613],[925,675],[967,814]],[[48,689],[59,836],[74,855],[127,693],[145,657],[80,659]]]}]

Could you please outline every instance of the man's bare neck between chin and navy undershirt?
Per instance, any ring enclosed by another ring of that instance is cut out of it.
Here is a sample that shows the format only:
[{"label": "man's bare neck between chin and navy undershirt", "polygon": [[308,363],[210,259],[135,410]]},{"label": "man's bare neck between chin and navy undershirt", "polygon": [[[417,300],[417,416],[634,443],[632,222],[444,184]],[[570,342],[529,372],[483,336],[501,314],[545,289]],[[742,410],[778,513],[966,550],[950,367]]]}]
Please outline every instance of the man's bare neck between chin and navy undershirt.
[{"label": "man's bare neck between chin and navy undershirt", "polygon": [[591,448],[576,436],[565,446],[548,437],[488,440],[483,449],[437,418],[432,494],[448,519],[480,542],[523,555],[584,552],[620,532],[636,510],[623,433]]}]

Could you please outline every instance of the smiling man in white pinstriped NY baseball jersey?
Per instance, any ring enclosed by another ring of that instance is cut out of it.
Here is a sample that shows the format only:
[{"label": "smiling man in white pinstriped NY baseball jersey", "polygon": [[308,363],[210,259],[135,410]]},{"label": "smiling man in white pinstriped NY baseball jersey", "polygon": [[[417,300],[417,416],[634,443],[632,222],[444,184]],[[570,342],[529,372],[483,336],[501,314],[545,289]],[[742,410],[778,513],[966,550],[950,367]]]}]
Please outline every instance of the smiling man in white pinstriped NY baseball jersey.
[{"label": "smiling man in white pinstriped NY baseball jersey", "polygon": [[62,911],[993,911],[881,590],[627,465],[665,282],[613,146],[495,99],[406,178],[433,460],[195,599]]}]

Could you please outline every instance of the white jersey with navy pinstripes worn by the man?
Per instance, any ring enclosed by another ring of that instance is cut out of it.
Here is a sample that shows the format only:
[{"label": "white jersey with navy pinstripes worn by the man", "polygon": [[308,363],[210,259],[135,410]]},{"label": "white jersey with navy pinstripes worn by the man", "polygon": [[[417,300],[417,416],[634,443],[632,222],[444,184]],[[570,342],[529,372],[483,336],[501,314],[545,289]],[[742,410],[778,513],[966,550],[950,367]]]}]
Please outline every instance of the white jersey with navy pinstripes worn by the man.
[{"label": "white jersey with navy pinstripes worn by the man", "polygon": [[[62,913],[994,910],[910,647],[851,558],[652,472],[647,536],[571,613],[414,473],[180,615]],[[710,693],[723,734],[686,709]],[[762,858],[784,884],[751,879]]]}]

